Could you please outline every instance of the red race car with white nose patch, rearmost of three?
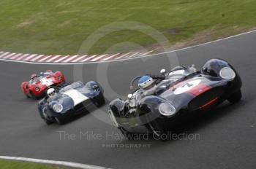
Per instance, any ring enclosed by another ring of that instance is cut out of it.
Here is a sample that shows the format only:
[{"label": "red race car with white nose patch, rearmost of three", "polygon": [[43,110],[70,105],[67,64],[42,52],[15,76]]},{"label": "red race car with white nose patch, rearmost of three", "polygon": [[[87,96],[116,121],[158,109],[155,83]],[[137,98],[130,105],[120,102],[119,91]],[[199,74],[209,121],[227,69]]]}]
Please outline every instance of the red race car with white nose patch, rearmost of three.
[{"label": "red race car with white nose patch, rearmost of three", "polygon": [[41,72],[39,75],[31,74],[29,82],[23,82],[21,88],[27,98],[42,98],[45,96],[46,90],[49,87],[60,86],[64,84],[65,77],[61,71],[48,70],[45,73]]}]

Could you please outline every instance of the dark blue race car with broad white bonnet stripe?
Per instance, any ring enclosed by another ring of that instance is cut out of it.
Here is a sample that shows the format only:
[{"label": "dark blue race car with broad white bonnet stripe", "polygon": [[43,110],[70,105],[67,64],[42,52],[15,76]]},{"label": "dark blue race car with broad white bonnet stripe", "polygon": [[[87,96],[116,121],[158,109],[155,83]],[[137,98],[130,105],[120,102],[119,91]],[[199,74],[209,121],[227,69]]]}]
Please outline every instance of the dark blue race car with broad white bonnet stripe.
[{"label": "dark blue race car with broad white bonnet stripe", "polygon": [[[88,112],[89,107],[99,107],[105,103],[102,87],[97,82],[73,82],[61,88],[50,88],[47,96],[39,101],[39,115],[50,125],[63,125],[69,117]],[[90,108],[90,109],[91,109]]]}]

